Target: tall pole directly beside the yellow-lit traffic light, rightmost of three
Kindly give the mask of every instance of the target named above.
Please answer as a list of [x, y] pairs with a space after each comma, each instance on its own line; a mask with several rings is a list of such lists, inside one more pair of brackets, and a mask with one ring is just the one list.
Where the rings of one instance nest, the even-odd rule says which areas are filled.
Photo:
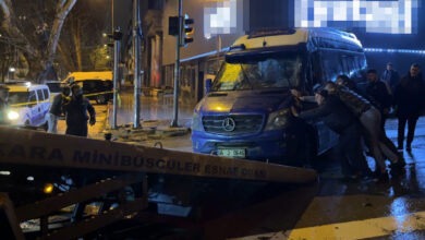
[[179, 127], [179, 80], [180, 80], [180, 46], [182, 39], [182, 0], [179, 0], [179, 35], [175, 38], [175, 64], [174, 64], [174, 118], [171, 122], [171, 128]]

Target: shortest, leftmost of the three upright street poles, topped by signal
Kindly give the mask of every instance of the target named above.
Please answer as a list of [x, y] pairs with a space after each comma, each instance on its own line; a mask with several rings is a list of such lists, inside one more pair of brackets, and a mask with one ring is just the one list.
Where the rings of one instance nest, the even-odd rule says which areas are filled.
[[113, 115], [112, 129], [117, 129], [117, 106], [118, 106], [118, 80], [120, 71], [118, 64], [120, 62], [120, 43], [122, 39], [121, 28], [118, 26], [113, 32]]

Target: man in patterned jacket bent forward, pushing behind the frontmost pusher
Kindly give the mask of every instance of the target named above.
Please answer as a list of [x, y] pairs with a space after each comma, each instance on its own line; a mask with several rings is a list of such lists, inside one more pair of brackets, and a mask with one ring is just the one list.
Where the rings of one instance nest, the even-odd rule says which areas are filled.
[[387, 156], [391, 161], [391, 168], [405, 165], [402, 156], [397, 153], [396, 146], [390, 145], [392, 142], [380, 128], [380, 112], [367, 99], [333, 82], [327, 82], [324, 88], [329, 94], [337, 96], [361, 122], [365, 130], [364, 135], [366, 136], [367, 146], [375, 158], [376, 173], [379, 177], [385, 178], [387, 176], [384, 156]]

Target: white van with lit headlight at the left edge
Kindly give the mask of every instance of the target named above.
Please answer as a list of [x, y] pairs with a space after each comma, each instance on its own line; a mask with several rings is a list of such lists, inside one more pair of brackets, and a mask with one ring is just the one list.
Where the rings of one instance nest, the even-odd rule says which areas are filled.
[[50, 91], [47, 85], [8, 84], [9, 112], [12, 125], [44, 127], [47, 129], [46, 115], [50, 108]]

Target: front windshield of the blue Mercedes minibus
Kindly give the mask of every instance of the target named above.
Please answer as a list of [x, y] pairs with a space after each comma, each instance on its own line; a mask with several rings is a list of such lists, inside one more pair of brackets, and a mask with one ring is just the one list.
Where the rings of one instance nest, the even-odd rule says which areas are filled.
[[299, 84], [300, 72], [299, 55], [238, 57], [221, 65], [211, 91], [288, 88]]

